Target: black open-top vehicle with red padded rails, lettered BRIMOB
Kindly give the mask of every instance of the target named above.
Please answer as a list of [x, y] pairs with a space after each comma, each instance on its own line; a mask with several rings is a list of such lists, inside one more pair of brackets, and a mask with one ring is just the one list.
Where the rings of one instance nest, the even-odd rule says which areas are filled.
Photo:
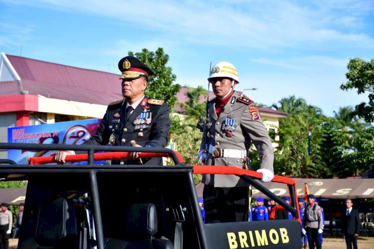
[[[0, 143], [2, 150], [75, 150], [68, 156], [85, 165], [56, 165], [53, 157], [28, 165], [0, 160], [2, 181], [27, 181], [18, 248], [300, 248], [301, 228], [295, 182], [291, 205], [255, 179], [262, 174], [225, 166], [189, 166], [166, 148]], [[104, 153], [95, 153], [97, 151]], [[95, 165], [94, 161], [170, 157], [174, 165]], [[46, 164], [47, 163], [47, 164]], [[204, 224], [193, 174], [236, 174], [292, 213], [294, 220]]]

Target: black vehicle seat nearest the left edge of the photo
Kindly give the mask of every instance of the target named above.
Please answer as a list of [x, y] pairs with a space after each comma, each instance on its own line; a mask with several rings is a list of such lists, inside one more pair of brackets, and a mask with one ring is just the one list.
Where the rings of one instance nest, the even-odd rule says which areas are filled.
[[18, 246], [18, 249], [54, 248], [79, 248], [75, 208], [64, 198], [40, 207], [35, 235]]

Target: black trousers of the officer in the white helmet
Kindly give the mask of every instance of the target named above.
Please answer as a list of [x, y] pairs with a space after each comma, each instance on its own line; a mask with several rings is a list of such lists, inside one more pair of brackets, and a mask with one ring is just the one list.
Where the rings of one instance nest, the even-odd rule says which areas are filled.
[[204, 185], [205, 223], [248, 221], [248, 188]]

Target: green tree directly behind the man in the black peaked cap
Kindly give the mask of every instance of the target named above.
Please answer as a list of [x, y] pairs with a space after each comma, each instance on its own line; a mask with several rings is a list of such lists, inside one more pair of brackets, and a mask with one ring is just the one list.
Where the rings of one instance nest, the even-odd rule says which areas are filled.
[[169, 55], [165, 54], [161, 47], [156, 52], [146, 48], [143, 48], [142, 52], [129, 51], [129, 55], [137, 57], [155, 72], [149, 79], [146, 95], [149, 98], [163, 99], [170, 108], [173, 108], [177, 104], [177, 93], [181, 85], [174, 84], [177, 77], [172, 73], [172, 68], [166, 65]]

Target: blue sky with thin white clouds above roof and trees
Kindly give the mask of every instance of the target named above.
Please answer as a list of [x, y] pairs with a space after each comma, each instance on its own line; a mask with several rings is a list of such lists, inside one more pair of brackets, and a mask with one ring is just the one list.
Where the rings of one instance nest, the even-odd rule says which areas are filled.
[[181, 85], [207, 88], [210, 62], [229, 61], [255, 102], [295, 95], [333, 116], [367, 101], [339, 87], [350, 58], [374, 58], [374, 1], [0, 0], [5, 54], [119, 73], [158, 47]]

